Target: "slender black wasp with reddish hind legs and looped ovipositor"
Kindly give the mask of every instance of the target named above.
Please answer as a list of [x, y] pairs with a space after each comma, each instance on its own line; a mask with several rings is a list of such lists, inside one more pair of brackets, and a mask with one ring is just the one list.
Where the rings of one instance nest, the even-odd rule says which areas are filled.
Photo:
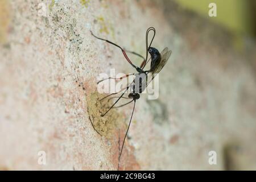
[[[151, 42], [150, 42], [150, 45], [148, 46], [148, 34], [150, 31], [153, 31], [154, 34], [152, 36], [152, 39], [151, 39]], [[161, 53], [159, 53], [158, 49], [154, 48], [154, 47], [151, 47], [151, 44], [152, 44], [152, 41], [154, 40], [155, 38], [155, 28], [154, 27], [150, 27], [147, 29], [146, 31], [146, 59], [142, 56], [142, 55], [139, 55], [138, 53], [136, 52], [133, 52], [133, 51], [127, 51], [125, 49], [123, 49], [122, 47], [118, 46], [117, 44], [113, 43], [113, 42], [110, 42], [109, 40], [106, 40], [106, 39], [102, 39], [102, 38], [99, 38], [97, 37], [96, 35], [93, 34], [93, 32], [91, 31], [92, 35], [97, 38], [97, 39], [100, 39], [100, 40], [104, 40], [106, 41], [107, 43], [109, 44], [112, 44], [118, 48], [121, 49], [122, 53], [123, 53], [123, 56], [125, 56], [125, 59], [128, 61], [128, 63], [130, 63], [130, 65], [132, 67], [134, 67], [136, 69], [136, 71], [138, 73], [130, 73], [130, 74], [127, 74], [123, 77], [119, 77], [119, 78], [112, 78], [112, 77], [109, 77], [109, 78], [106, 78], [104, 80], [107, 80], [107, 79], [114, 79], [114, 80], [122, 80], [123, 78], [126, 78], [126, 77], [129, 77], [131, 75], [134, 75], [135, 78], [133, 80], [133, 82], [131, 84], [129, 84], [126, 88], [120, 90], [119, 92], [116, 92], [116, 93], [112, 93], [112, 94], [109, 94], [108, 96], [102, 98], [101, 100], [104, 100], [105, 98], [109, 97], [109, 96], [113, 96], [114, 94], [118, 94], [118, 93], [122, 93], [121, 96], [119, 97], [112, 97], [112, 98], [118, 98], [114, 104], [108, 109], [108, 111], [106, 111], [106, 113], [102, 114], [101, 116], [104, 117], [105, 114], [107, 114], [109, 112], [110, 109], [112, 108], [117, 108], [117, 107], [122, 107], [122, 106], [125, 106], [131, 102], [134, 102], [134, 106], [133, 106], [133, 112], [131, 113], [131, 118], [133, 118], [133, 113], [134, 113], [134, 108], [135, 108], [135, 103], [136, 101], [139, 99], [140, 97], [140, 94], [146, 89], [147, 85], [154, 79], [155, 75], [157, 73], [159, 73], [162, 68], [164, 67], [164, 65], [166, 64], [167, 60], [169, 59], [170, 55], [171, 55], [171, 52], [170, 50], [168, 50], [168, 48], [164, 48], [163, 51]], [[129, 57], [127, 56], [126, 52], [129, 52], [129, 53], [133, 53], [134, 55], [137, 55], [139, 57], [141, 57], [143, 59], [142, 63], [141, 63], [141, 66], [140, 67], [137, 67], [136, 65], [134, 65], [131, 60], [129, 59]], [[150, 53], [150, 58], [147, 60], [147, 57], [148, 57], [148, 53]], [[150, 69], [147, 70], [147, 71], [144, 71], [144, 67], [146, 66], [146, 64], [148, 63], [148, 61], [151, 60], [151, 64], [150, 64]], [[151, 76], [151, 79], [150, 81], [147, 81], [147, 78], [148, 78], [148, 73], [151, 73], [152, 76]], [[104, 81], [104, 80], [101, 80], [101, 81]], [[98, 83], [100, 83], [101, 81], [98, 81]], [[130, 88], [130, 90], [129, 90]], [[123, 94], [126, 93], [126, 91], [129, 90], [129, 95], [128, 97], [123, 97]], [[117, 104], [117, 102], [121, 99], [121, 98], [126, 98], [126, 99], [130, 99], [131, 101], [127, 102], [126, 104], [123, 104], [123, 105], [120, 105], [120, 106], [115, 106], [115, 104]], [[125, 134], [125, 138], [123, 138], [123, 143], [122, 143], [122, 148], [121, 148], [121, 152], [119, 154], [119, 160], [121, 158], [121, 155], [122, 155], [122, 151], [123, 151], [123, 145], [125, 144], [125, 139], [126, 139], [126, 136], [127, 136], [127, 133], [129, 131], [129, 127], [130, 127], [130, 124], [131, 124], [131, 118], [130, 118], [130, 122], [129, 122], [129, 125], [128, 125], [128, 128], [127, 128], [127, 131], [126, 131], [126, 134]]]

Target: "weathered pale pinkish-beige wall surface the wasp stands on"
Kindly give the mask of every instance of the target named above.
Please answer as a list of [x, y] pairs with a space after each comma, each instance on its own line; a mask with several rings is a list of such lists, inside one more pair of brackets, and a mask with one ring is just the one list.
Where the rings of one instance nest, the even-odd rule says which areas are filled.
[[173, 53], [159, 99], [137, 102], [120, 169], [256, 169], [255, 47], [237, 53], [228, 32], [171, 1], [43, 1], [46, 17], [40, 2], [1, 2], [1, 169], [117, 169], [133, 106], [113, 111], [112, 137], [99, 135], [96, 78], [134, 70], [89, 30], [144, 54], [150, 26], [154, 47]]

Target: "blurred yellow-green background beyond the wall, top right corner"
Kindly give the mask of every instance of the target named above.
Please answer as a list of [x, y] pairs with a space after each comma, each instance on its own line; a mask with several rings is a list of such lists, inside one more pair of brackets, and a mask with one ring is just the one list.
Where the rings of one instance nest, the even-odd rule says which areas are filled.
[[[180, 7], [220, 24], [234, 35], [234, 46], [242, 50], [244, 39], [256, 38], [256, 1], [254, 0], [175, 0]], [[207, 17], [209, 3], [216, 3], [217, 17]]]

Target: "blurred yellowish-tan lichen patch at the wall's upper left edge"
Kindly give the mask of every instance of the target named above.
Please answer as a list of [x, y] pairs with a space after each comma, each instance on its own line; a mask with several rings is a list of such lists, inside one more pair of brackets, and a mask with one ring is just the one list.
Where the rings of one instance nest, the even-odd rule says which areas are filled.
[[7, 32], [10, 23], [10, 7], [9, 1], [0, 1], [0, 43], [6, 43]]

